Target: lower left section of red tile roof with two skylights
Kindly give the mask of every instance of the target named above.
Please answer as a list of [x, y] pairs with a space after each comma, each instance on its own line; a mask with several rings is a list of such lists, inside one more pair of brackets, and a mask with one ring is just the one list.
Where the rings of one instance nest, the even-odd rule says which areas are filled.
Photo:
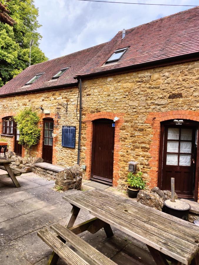
[[[73, 77], [81, 68], [88, 63], [105, 45], [106, 43], [81, 50], [66, 56], [31, 65], [24, 71], [10, 80], [7, 84], [0, 88], [0, 96], [15, 94], [21, 92], [31, 92], [56, 86], [64, 86], [77, 83]], [[52, 79], [60, 69], [69, 67], [59, 78]], [[31, 85], [25, 85], [36, 74], [45, 72], [38, 80]]]

